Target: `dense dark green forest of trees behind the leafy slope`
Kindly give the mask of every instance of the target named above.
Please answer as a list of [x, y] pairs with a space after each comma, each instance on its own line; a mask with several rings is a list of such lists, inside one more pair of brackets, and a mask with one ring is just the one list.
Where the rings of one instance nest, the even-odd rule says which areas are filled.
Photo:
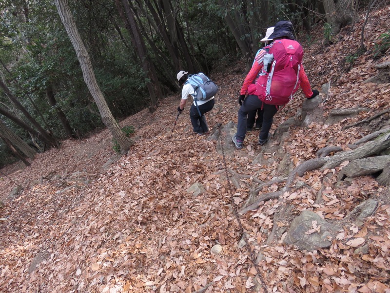
[[[375, 0], [2, 0], [0, 167], [20, 159], [28, 165], [24, 158], [104, 125], [125, 153], [133, 142], [117, 122], [145, 107], [154, 112], [158, 101], [178, 91], [179, 70], [209, 74], [240, 60], [248, 70], [265, 30], [279, 20], [292, 21], [309, 43], [312, 30], [321, 29], [329, 44], [340, 29], [359, 21], [359, 10], [369, 17], [380, 5]], [[76, 31], [67, 33], [64, 15]], [[82, 50], [70, 41], [75, 34]], [[347, 62], [366, 50], [364, 37], [356, 42], [361, 44]], [[383, 50], [377, 46], [377, 53]], [[95, 77], [97, 90], [88, 82]]]

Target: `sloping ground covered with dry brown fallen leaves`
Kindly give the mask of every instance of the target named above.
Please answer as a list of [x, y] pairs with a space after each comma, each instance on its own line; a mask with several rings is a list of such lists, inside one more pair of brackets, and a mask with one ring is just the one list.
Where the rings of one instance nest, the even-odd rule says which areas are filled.
[[[373, 59], [374, 43], [390, 30], [390, 7], [374, 12], [365, 27], [368, 51], [353, 58], [363, 20], [346, 27], [339, 39], [325, 46], [316, 28], [311, 43], [299, 38], [305, 49], [304, 65], [312, 88], [330, 84], [325, 115], [332, 109], [367, 107], [354, 118], [327, 125], [324, 120], [289, 130], [283, 149], [298, 166], [315, 158], [323, 146], [342, 146], [375, 130], [375, 126], [343, 126], [389, 108], [390, 84], [364, 83], [377, 74], [373, 65], [389, 61], [389, 54]], [[317, 38], [317, 39], [316, 39]], [[354, 63], [346, 62], [354, 60]], [[210, 76], [219, 85], [215, 109], [207, 115], [213, 131], [217, 125], [236, 122], [237, 98], [244, 80], [242, 63]], [[274, 117], [272, 130], [293, 116], [303, 94]], [[81, 140], [66, 140], [61, 148], [37, 155], [31, 166], [3, 168], [0, 178], [0, 292], [252, 292], [256, 268], [245, 247], [239, 245], [241, 229], [234, 216], [234, 200], [242, 207], [258, 182], [280, 176], [280, 162], [262, 164], [275, 154], [257, 146], [258, 131], [248, 133], [244, 148], [232, 142], [192, 133], [189, 105], [179, 116], [180, 94], [120, 122], [134, 126], [136, 144], [127, 155], [117, 156], [111, 134], [103, 130]], [[388, 116], [387, 116], [388, 117]], [[173, 127], [174, 126], [174, 127]], [[269, 143], [275, 144], [275, 138]], [[217, 145], [226, 150], [224, 156]], [[111, 165], [106, 162], [116, 158]], [[225, 168], [228, 168], [228, 170]], [[342, 239], [331, 248], [301, 252], [282, 244], [282, 237], [267, 242], [273, 225], [288, 227], [290, 215], [274, 223], [283, 202], [292, 204], [291, 215], [310, 209], [336, 223], [367, 198], [383, 198], [387, 187], [371, 176], [348, 185], [331, 184], [328, 201], [314, 204], [325, 176], [338, 181], [341, 167], [312, 170], [296, 178], [308, 188], [265, 201], [241, 216], [251, 250], [262, 255], [258, 268], [268, 292], [390, 292], [390, 206], [381, 202], [362, 227], [345, 228], [345, 238], [364, 238], [366, 254]], [[228, 181], [229, 173], [232, 181]], [[236, 174], [236, 176], [234, 175]], [[233, 177], [234, 182], [232, 184]], [[188, 189], [195, 183], [205, 192]], [[20, 185], [20, 194], [10, 197]], [[261, 192], [280, 190], [283, 184], [265, 186]], [[219, 244], [222, 251], [212, 253]], [[260, 286], [260, 292], [265, 292]]]

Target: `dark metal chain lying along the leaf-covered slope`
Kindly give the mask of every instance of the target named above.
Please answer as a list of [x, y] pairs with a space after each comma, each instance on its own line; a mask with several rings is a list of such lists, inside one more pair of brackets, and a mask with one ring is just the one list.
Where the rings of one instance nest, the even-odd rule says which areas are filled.
[[[251, 247], [250, 247], [249, 242], [248, 242], [248, 237], [244, 233], [244, 228], [242, 228], [241, 219], [240, 219], [240, 216], [238, 215], [238, 212], [237, 212], [237, 208], [238, 207], [237, 207], [237, 205], [234, 202], [234, 198], [233, 198], [234, 192], [233, 192], [232, 185], [230, 184], [229, 172], [228, 172], [228, 167], [227, 167], [226, 158], [225, 158], [225, 151], [223, 149], [223, 143], [222, 143], [223, 141], [222, 141], [222, 138], [221, 138], [221, 124], [218, 125], [218, 128], [219, 128], [219, 137], [220, 137], [221, 150], [222, 150], [222, 163], [223, 163], [223, 166], [225, 168], [226, 178], [228, 180], [228, 189], [229, 189], [229, 193], [230, 193], [230, 202], [231, 202], [231, 205], [232, 205], [232, 208], [233, 208], [233, 211], [234, 211], [234, 216], [235, 216], [235, 219], [238, 222], [238, 227], [240, 228], [240, 232], [242, 234], [242, 237], [244, 237], [245, 246], [247, 247], [247, 250], [248, 250], [248, 252], [249, 252], [249, 254], [251, 256], [251, 261], [252, 261], [252, 263], [254, 265], [254, 268], [256, 269], [257, 276], [258, 276], [258, 278], [260, 279], [260, 282], [261, 282], [261, 286], [263, 287], [264, 292], [268, 293], [267, 285], [265, 284], [264, 279], [261, 276], [260, 268], [256, 264], [256, 260], [254, 258], [254, 253], [251, 250]], [[216, 149], [216, 145], [215, 145], [215, 149]]]

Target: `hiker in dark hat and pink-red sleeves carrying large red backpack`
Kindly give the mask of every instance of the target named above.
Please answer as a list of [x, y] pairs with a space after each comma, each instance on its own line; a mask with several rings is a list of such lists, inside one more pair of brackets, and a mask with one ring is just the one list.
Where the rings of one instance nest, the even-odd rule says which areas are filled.
[[319, 94], [317, 90], [312, 91], [303, 69], [303, 49], [295, 41], [292, 23], [277, 22], [270, 39], [273, 43], [264, 47], [256, 56], [256, 62], [240, 90], [238, 103], [241, 107], [238, 110], [237, 132], [233, 135], [233, 143], [237, 149], [242, 148], [250, 111], [263, 109], [263, 124], [258, 140], [258, 145], [262, 146], [271, 138], [269, 131], [273, 116], [292, 99], [299, 87], [308, 99]]

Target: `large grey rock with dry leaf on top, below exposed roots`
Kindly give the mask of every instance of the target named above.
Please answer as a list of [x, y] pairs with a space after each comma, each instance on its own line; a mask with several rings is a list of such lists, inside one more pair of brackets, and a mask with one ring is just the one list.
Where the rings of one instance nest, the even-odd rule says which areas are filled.
[[[315, 222], [317, 230], [313, 231]], [[315, 212], [304, 210], [292, 220], [283, 243], [295, 245], [301, 251], [328, 248], [331, 246], [331, 238], [342, 230], [342, 227], [328, 223]]]

